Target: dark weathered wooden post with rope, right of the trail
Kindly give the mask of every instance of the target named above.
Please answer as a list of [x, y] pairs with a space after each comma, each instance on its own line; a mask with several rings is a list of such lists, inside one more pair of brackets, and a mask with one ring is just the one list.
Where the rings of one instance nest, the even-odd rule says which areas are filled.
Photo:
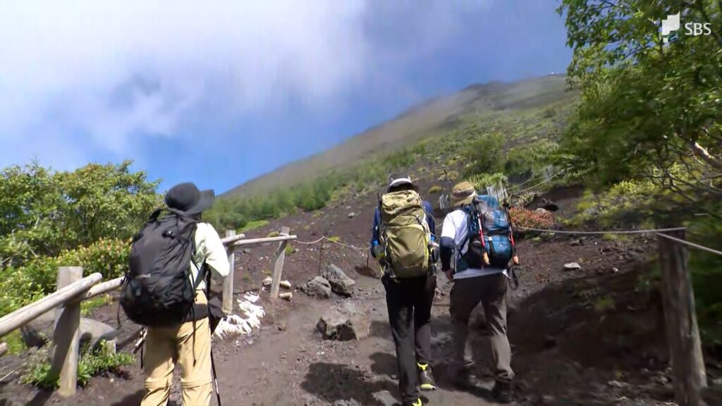
[[[684, 231], [669, 233], [684, 239]], [[658, 236], [662, 269], [662, 302], [672, 363], [672, 383], [679, 406], [701, 405], [701, 388], [707, 386], [695, 295], [687, 269], [687, 248]]]

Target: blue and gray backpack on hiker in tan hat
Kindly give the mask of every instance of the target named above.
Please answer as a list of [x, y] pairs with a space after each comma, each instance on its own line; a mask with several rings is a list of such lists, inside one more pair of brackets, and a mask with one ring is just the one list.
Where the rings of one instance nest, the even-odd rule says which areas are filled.
[[[477, 196], [473, 204], [464, 207], [469, 215], [469, 249], [464, 261], [469, 267], [506, 269], [514, 253], [509, 217], [499, 201], [487, 194]], [[486, 254], [486, 255], [484, 255]], [[488, 258], [488, 263], [484, 259]]]

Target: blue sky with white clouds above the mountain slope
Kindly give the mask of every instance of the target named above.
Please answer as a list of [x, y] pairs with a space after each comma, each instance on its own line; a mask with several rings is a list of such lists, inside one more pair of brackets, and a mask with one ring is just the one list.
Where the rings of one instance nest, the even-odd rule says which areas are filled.
[[564, 72], [553, 0], [0, 0], [0, 165], [222, 193], [427, 98]]

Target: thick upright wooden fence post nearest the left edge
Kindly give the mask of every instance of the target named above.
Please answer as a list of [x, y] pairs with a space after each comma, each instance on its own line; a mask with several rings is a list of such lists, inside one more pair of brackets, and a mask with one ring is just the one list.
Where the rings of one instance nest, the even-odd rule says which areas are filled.
[[[83, 277], [82, 267], [60, 267], [58, 288], [60, 290]], [[78, 356], [80, 340], [80, 302], [67, 302], [57, 308], [53, 330], [53, 362], [51, 376], [60, 376], [58, 394], [71, 397], [77, 389]]]

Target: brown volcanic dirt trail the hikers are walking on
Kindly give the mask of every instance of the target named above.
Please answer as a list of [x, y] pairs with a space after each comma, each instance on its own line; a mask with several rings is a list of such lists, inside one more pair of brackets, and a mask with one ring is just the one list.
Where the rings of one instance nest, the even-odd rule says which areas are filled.
[[[422, 184], [422, 189], [428, 185]], [[555, 197], [567, 210], [563, 194]], [[302, 213], [247, 233], [265, 236], [290, 226], [300, 241], [339, 236], [364, 247], [373, 216], [370, 199], [331, 205], [321, 213]], [[354, 216], [349, 216], [354, 212]], [[440, 219], [439, 219], [440, 220]], [[383, 287], [365, 269], [359, 252], [326, 243], [305, 246], [287, 257], [284, 278], [295, 287], [318, 274], [319, 258], [342, 267], [357, 280], [355, 297], [326, 301], [296, 291], [291, 303], [271, 303], [261, 295], [267, 316], [261, 330], [215, 345], [219, 384], [225, 405], [238, 406], [387, 406], [396, 399], [396, 361], [388, 328]], [[257, 289], [269, 269], [275, 246], [267, 244], [237, 256], [238, 294]], [[521, 288], [511, 293], [509, 336], [517, 376], [518, 405], [664, 405], [672, 399], [661, 303], [643, 272], [655, 250], [650, 241], [605, 241], [588, 238], [547, 238], [521, 241]], [[321, 255], [320, 255], [321, 254]], [[579, 262], [582, 269], [565, 272], [562, 264]], [[450, 285], [438, 276], [443, 293]], [[321, 340], [314, 332], [327, 308], [353, 301], [371, 319], [371, 336], [352, 342]], [[116, 305], [93, 316], [115, 324]], [[137, 327], [124, 324], [126, 345]], [[450, 384], [451, 322], [448, 294], [435, 302], [432, 354], [440, 389], [427, 395], [429, 405], [493, 405], [487, 400], [493, 375], [490, 345], [483, 321], [474, 324], [471, 340], [477, 349], [484, 386], [474, 393]], [[126, 347], [127, 348], [127, 347]], [[7, 357], [6, 357], [7, 358]], [[720, 376], [718, 360], [708, 358], [711, 378]], [[4, 367], [0, 373], [5, 374]], [[0, 384], [0, 406], [10, 405], [138, 405], [143, 377], [139, 365], [124, 376], [100, 377], [74, 399], [30, 389], [14, 381]], [[173, 403], [180, 397], [173, 389]], [[178, 403], [175, 403], [178, 404]], [[712, 403], [714, 404], [714, 403]]]

